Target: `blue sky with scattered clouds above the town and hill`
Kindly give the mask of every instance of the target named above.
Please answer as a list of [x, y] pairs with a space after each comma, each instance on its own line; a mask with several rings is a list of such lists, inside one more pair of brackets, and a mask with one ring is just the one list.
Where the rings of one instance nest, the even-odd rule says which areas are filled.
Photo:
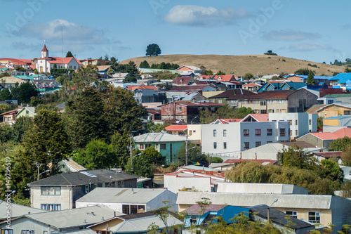
[[[0, 57], [72, 51], [79, 59], [263, 54], [317, 63], [351, 58], [350, 1], [1, 0]], [[62, 29], [62, 30], [61, 30]], [[63, 37], [62, 37], [63, 34]], [[62, 40], [63, 39], [63, 40]]]

